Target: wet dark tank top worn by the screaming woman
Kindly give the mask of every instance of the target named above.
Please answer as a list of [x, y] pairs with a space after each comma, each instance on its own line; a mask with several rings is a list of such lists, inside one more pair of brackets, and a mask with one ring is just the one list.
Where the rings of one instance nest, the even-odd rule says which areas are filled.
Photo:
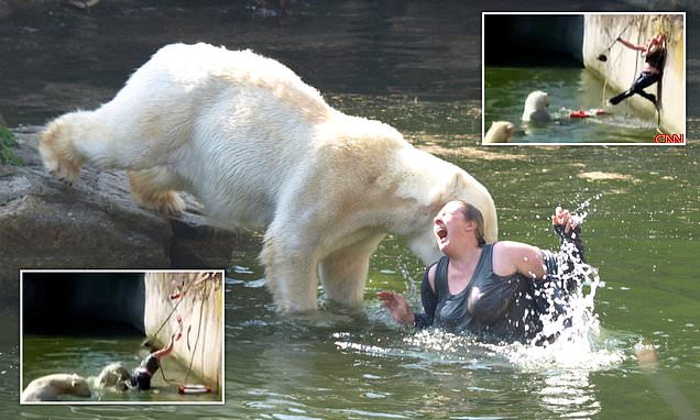
[[524, 341], [542, 330], [531, 280], [521, 274], [502, 277], [493, 273], [493, 244], [484, 245], [471, 280], [457, 295], [449, 291], [448, 265], [449, 258], [444, 256], [435, 272], [438, 303], [434, 327], [453, 333]]

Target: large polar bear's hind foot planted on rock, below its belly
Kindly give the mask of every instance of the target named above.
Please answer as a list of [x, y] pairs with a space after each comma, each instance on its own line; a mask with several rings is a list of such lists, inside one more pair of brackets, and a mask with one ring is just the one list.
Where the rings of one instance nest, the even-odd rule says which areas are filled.
[[129, 185], [134, 200], [146, 209], [165, 214], [179, 215], [185, 202], [175, 192], [177, 179], [165, 167], [129, 170]]

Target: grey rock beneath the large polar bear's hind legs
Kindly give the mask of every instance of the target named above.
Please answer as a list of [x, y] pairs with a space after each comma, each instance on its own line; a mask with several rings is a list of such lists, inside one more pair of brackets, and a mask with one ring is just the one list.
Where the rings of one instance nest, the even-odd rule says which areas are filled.
[[[0, 294], [19, 296], [20, 269], [227, 268], [250, 236], [209, 225], [201, 206], [171, 218], [138, 207], [123, 172], [85, 166], [73, 186], [51, 177], [41, 128], [17, 130], [25, 165], [0, 166]], [[247, 245], [249, 246], [249, 245]]]

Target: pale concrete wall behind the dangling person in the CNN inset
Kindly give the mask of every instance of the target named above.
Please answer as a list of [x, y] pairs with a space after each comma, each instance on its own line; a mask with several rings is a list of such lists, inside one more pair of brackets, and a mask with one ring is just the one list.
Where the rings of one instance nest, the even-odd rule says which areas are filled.
[[[646, 44], [658, 31], [666, 34], [667, 57], [664, 78], [660, 86], [653, 85], [645, 90], [661, 98], [661, 130], [666, 133], [685, 134], [686, 56], [682, 15], [666, 14], [663, 18], [657, 14], [586, 15], [583, 26], [583, 64], [589, 70], [608, 79], [608, 98], [628, 89], [644, 68], [644, 57], [638, 52], [621, 43], [615, 43], [610, 51], [606, 51], [610, 44], [623, 31], [622, 38], [637, 45]], [[608, 62], [598, 59], [601, 53], [608, 56]], [[660, 92], [657, 91], [657, 86]], [[635, 95], [627, 100], [642, 115], [656, 118], [654, 106], [646, 99]]]

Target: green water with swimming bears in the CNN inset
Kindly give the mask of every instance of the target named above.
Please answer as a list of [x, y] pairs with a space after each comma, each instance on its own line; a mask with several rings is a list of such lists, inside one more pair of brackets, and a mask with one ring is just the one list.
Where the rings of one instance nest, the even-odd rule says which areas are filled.
[[[525, 99], [535, 90], [549, 95], [549, 123], [521, 121]], [[512, 141], [516, 143], [654, 143], [656, 113], [633, 110], [627, 102], [605, 106], [605, 100], [619, 92], [584, 68], [486, 66], [484, 128], [488, 131], [494, 121], [513, 122], [516, 133]], [[571, 111], [598, 109], [606, 113], [569, 118]]]

